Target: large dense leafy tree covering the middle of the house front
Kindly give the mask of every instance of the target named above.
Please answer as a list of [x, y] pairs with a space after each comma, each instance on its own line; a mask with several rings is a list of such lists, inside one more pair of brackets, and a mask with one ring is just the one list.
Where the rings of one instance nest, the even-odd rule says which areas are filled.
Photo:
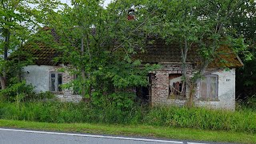
[[[47, 2], [39, 2], [38, 7], [46, 14], [43, 24], [57, 31], [62, 62], [70, 64], [70, 74], [78, 78], [70, 84], [78, 86], [84, 97], [147, 84], [150, 66], [142, 69], [141, 62], [130, 57], [146, 41], [142, 26], [148, 17], [138, 14], [136, 20], [127, 20], [128, 10], [138, 2], [114, 1], [107, 9], [98, 0], [74, 0], [72, 7]], [[57, 3], [62, 10], [49, 7]]]

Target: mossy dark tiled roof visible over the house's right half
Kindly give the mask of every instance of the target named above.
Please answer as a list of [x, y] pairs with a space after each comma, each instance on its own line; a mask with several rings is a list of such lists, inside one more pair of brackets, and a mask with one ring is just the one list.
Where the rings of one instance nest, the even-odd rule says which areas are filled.
[[[218, 49], [219, 53], [210, 63], [209, 67], [239, 67], [243, 66], [242, 61], [228, 46], [222, 46]], [[145, 52], [139, 52], [134, 58], [142, 60], [144, 63], [164, 63], [164, 62], [182, 62], [182, 54], [178, 43], [166, 45], [161, 38], [154, 39], [152, 43], [146, 45]], [[197, 49], [193, 46], [188, 51], [186, 62], [200, 63]]]

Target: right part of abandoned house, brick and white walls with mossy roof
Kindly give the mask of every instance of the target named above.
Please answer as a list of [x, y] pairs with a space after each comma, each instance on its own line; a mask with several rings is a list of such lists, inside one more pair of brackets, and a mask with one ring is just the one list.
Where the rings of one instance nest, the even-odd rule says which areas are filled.
[[[227, 46], [222, 46], [219, 50], [222, 51], [221, 54], [210, 63], [204, 78], [196, 87], [194, 105], [234, 110], [235, 68], [243, 66], [243, 63]], [[152, 104], [182, 106], [186, 103], [189, 89], [188, 86], [182, 85], [182, 58], [178, 44], [167, 46], [162, 39], [156, 39], [153, 44], [146, 45], [146, 53], [136, 57], [144, 63], [158, 63], [162, 66], [161, 69], [150, 72], [150, 86], [140, 89], [144, 94], [142, 97], [149, 98]], [[197, 70], [200, 61], [198, 57], [195, 51], [188, 51], [188, 77]]]

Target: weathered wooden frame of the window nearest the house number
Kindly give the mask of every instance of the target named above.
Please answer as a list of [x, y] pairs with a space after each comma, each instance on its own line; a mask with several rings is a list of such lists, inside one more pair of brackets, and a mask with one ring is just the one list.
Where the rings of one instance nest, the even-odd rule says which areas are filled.
[[[210, 94], [211, 78], [215, 78], [215, 96]], [[206, 96], [202, 96], [202, 81], [206, 79]], [[217, 74], [207, 74], [204, 76], [204, 79], [200, 81], [200, 99], [202, 100], [218, 100], [218, 75]]]

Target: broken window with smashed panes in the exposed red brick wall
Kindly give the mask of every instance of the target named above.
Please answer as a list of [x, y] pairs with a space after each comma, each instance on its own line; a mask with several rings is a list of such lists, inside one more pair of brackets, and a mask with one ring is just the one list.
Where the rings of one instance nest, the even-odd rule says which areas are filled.
[[186, 98], [186, 83], [182, 82], [182, 74], [169, 74], [169, 97]]

